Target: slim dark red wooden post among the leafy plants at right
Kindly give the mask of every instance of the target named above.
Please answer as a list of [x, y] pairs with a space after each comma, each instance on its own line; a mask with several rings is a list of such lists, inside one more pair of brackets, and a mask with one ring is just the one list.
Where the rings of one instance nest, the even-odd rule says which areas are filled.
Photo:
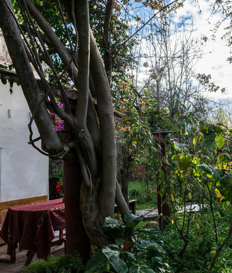
[[[159, 143], [160, 141], [160, 147], [161, 147], [161, 155], [164, 157], [166, 154], [166, 149], [165, 149], [165, 139], [164, 137], [166, 136], [166, 132], [162, 132], [160, 133], [160, 140], [159, 140], [159, 133], [155, 133], [154, 136], [156, 138], [157, 143]], [[165, 177], [165, 181], [167, 180], [167, 175], [166, 175], [166, 164], [163, 162], [162, 164], [162, 170], [164, 173], [164, 177]], [[163, 181], [163, 182], [165, 182]], [[161, 199], [162, 201], [164, 201], [166, 199], [166, 193], [164, 192], [162, 198], [159, 194], [160, 191], [160, 185], [157, 186], [157, 206], [158, 206], [158, 213], [161, 214]], [[164, 203], [162, 206], [163, 209], [163, 226], [165, 226], [165, 224], [167, 224], [169, 222], [169, 218], [170, 218], [170, 206], [167, 203]], [[159, 218], [159, 225], [160, 227], [162, 227], [161, 224], [161, 217]]]

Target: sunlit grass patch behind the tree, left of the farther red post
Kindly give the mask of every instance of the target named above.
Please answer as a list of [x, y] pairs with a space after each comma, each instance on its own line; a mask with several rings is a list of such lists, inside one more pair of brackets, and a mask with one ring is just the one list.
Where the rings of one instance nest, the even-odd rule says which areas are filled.
[[149, 183], [150, 193], [146, 189], [145, 180], [131, 180], [128, 183], [129, 200], [137, 199], [136, 209], [143, 210], [157, 206], [156, 185]]

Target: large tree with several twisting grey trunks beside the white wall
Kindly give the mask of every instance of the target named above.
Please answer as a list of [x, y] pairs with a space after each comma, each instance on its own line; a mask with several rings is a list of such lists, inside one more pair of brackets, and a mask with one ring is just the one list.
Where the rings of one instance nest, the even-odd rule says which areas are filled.
[[[87, 0], [40, 3], [18, 0], [13, 2], [13, 7], [10, 0], [1, 0], [0, 27], [32, 113], [29, 143], [45, 156], [79, 162], [83, 175], [80, 189], [82, 221], [92, 244], [101, 247], [112, 242], [104, 233], [103, 223], [106, 217], [114, 216], [115, 202], [122, 216], [129, 211], [116, 182], [116, 137], [110, 86], [112, 62], [133, 35], [122, 40], [120, 45], [119, 42], [114, 44], [115, 53], [111, 58], [110, 35], [112, 24], [120, 15], [119, 2], [109, 0], [106, 5], [93, 5]], [[89, 7], [96, 11], [94, 16], [99, 15], [95, 21], [89, 20]], [[167, 9], [167, 5], [153, 5], [152, 8], [160, 12]], [[100, 9], [104, 9], [104, 18], [99, 14]], [[90, 25], [97, 29], [94, 33], [97, 40]], [[146, 23], [142, 27], [144, 25]], [[115, 40], [118, 41], [117, 35]], [[55, 81], [53, 84], [47, 81], [41, 61], [46, 63], [49, 79]], [[31, 65], [39, 74], [44, 94], [41, 94]], [[78, 90], [75, 106], [70, 99], [72, 95], [62, 85], [67, 77]], [[54, 86], [62, 94], [64, 110], [57, 105], [52, 92]], [[64, 140], [59, 137], [60, 132], [55, 131], [48, 108], [66, 123], [68, 137], [65, 135]], [[33, 120], [39, 130], [42, 150], [35, 146], [38, 139], [32, 139]]]

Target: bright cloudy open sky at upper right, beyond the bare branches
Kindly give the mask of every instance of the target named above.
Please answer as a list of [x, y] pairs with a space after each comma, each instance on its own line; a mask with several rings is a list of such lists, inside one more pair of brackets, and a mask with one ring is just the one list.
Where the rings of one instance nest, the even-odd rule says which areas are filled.
[[[217, 12], [216, 14], [211, 15], [212, 7], [211, 5], [214, 1], [209, 0], [198, 0], [200, 5], [200, 9], [196, 7], [195, 1], [186, 0], [184, 2], [183, 8], [177, 9], [177, 13], [173, 14], [173, 24], [176, 23], [180, 26], [180, 29], [183, 27], [182, 18], [184, 16], [184, 25], [185, 29], [192, 28], [192, 20], [193, 17], [193, 36], [199, 39], [201, 36], [206, 36], [207, 42], [203, 42], [203, 57], [200, 59], [196, 66], [195, 72], [200, 74], [211, 74], [211, 81], [215, 83], [216, 86], [220, 86], [220, 89], [225, 87], [226, 92], [223, 94], [221, 91], [217, 91], [216, 93], [208, 93], [205, 94], [209, 99], [212, 99], [216, 102], [222, 101], [224, 102], [227, 97], [229, 100], [232, 100], [232, 87], [231, 87], [231, 79], [232, 79], [232, 64], [230, 65], [227, 62], [227, 58], [230, 56], [230, 49], [226, 46], [226, 43], [221, 40], [221, 37], [224, 35], [224, 27], [229, 25], [228, 20], [220, 26], [220, 28], [216, 32], [215, 41], [211, 39], [211, 35], [213, 34], [211, 29], [214, 29], [214, 24], [218, 21], [222, 21], [224, 19], [221, 12]], [[147, 11], [146, 11], [147, 10]], [[143, 9], [142, 12], [150, 12], [150, 10]], [[173, 25], [174, 29], [174, 25]], [[211, 52], [211, 53], [210, 53]]]

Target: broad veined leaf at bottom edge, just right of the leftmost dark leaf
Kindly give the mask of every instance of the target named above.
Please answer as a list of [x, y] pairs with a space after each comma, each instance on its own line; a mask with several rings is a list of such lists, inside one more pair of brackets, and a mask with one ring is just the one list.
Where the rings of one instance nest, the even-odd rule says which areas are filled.
[[126, 263], [119, 258], [120, 251], [116, 245], [108, 245], [102, 248], [102, 252], [108, 258], [109, 263], [113, 266], [116, 272], [127, 273]]

